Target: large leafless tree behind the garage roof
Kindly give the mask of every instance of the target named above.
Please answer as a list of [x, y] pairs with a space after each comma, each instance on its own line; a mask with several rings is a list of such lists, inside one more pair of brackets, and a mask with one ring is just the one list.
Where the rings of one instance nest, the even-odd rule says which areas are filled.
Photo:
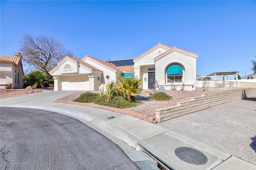
[[49, 74], [49, 71], [66, 55], [73, 56], [73, 53], [66, 50], [64, 45], [53, 36], [32, 36], [25, 34], [19, 42], [19, 50], [24, 61]]

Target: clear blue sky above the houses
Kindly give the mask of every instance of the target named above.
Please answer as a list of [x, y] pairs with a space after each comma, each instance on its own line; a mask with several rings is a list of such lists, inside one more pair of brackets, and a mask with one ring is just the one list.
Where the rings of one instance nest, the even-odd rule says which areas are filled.
[[55, 36], [74, 57], [134, 58], [157, 43], [199, 54], [197, 74], [253, 73], [256, 1], [0, 1], [0, 54], [24, 34]]

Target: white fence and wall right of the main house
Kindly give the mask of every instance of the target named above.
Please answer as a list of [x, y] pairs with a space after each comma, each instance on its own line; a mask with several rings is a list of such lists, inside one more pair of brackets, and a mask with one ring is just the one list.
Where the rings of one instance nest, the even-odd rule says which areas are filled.
[[218, 90], [235, 90], [243, 88], [256, 88], [255, 82], [244, 82], [241, 80], [232, 79], [230, 76], [206, 76], [206, 77], [197, 77], [196, 85], [197, 90], [204, 91], [218, 91]]

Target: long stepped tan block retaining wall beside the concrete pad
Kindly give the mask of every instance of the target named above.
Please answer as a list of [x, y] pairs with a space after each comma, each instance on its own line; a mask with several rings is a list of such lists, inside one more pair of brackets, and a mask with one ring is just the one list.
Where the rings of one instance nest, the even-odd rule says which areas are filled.
[[176, 106], [156, 109], [156, 121], [160, 123], [188, 113], [249, 97], [256, 97], [256, 88], [202, 94], [201, 97], [194, 97], [190, 101], [178, 102]]

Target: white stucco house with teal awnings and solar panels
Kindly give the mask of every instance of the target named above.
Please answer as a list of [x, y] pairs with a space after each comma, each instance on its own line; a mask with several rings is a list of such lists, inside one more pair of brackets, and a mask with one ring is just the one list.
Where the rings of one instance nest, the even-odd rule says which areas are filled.
[[82, 59], [66, 56], [50, 74], [54, 78], [54, 91], [98, 90], [99, 86], [118, 77], [136, 77], [142, 80], [142, 89], [159, 87], [171, 89], [171, 83], [180, 90], [192, 90], [196, 82], [198, 54], [158, 43], [136, 58], [102, 61], [86, 55]]

